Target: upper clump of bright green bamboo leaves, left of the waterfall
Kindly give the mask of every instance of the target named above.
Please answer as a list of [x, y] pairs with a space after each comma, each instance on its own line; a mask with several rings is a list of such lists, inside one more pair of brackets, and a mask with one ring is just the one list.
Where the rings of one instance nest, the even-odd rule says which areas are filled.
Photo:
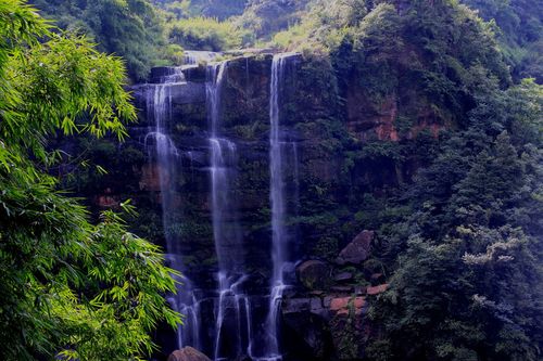
[[[30, 147], [35, 155], [42, 155], [40, 137], [59, 128], [66, 134], [113, 132], [123, 139], [124, 126], [115, 120], [135, 118], [123, 89], [123, 62], [99, 53], [85, 38], [51, 37], [39, 47], [14, 50], [7, 63], [9, 81], [16, 85], [12, 93], [20, 102], [13, 109], [18, 116], [5, 116], [2, 136]], [[84, 115], [88, 121], [77, 124]]]

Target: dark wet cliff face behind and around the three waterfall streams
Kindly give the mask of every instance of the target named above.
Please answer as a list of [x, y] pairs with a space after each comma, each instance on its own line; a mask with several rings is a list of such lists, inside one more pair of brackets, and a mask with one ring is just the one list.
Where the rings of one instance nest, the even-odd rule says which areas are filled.
[[[269, 293], [273, 269], [272, 57], [263, 54], [229, 61], [222, 95], [220, 132], [235, 142], [238, 154], [230, 190], [237, 211], [227, 215], [226, 221], [240, 222], [243, 271], [249, 274], [247, 292], [255, 297], [256, 304]], [[153, 77], [157, 79], [168, 72], [155, 69]], [[416, 143], [416, 136], [425, 131], [433, 139], [439, 128], [419, 121], [405, 130], [401, 115], [409, 107], [402, 107], [397, 95], [390, 94], [381, 102], [370, 101], [356, 75], [342, 79], [326, 59], [294, 56], [289, 59], [285, 72], [280, 123], [287, 154], [286, 222], [292, 235], [288, 282], [296, 285], [286, 295], [291, 301], [285, 304], [283, 333], [289, 335], [285, 347], [292, 360], [327, 360], [333, 354], [349, 358], [363, 351], [349, 347], [348, 351], [341, 351], [349, 345], [349, 337], [367, 337], [372, 332], [361, 321], [367, 308], [363, 296], [366, 287], [383, 280], [376, 276], [379, 267], [369, 248], [356, 263], [338, 262], [337, 257], [356, 234], [372, 227], [368, 219], [359, 217], [361, 206], [370, 205], [368, 199], [384, 196], [390, 188], [409, 181], [414, 167], [424, 162], [415, 152], [409, 159], [395, 157], [395, 147]], [[175, 190], [171, 196], [176, 210], [168, 217], [176, 221], [169, 222], [169, 229], [163, 229], [161, 165], [150, 154], [149, 144], [146, 149], [146, 134], [153, 128], [147, 108], [152, 96], [148, 85], [132, 88], [140, 112], [139, 123], [129, 128], [131, 138], [117, 149], [108, 142], [104, 144], [110, 145], [93, 146], [94, 156], [115, 160], [106, 165], [110, 173], [105, 178], [88, 183], [91, 188], [87, 192], [91, 193], [96, 208], [115, 207], [118, 202], [132, 198], [140, 212], [134, 230], [162, 245], [165, 245], [164, 232], [178, 238], [185, 273], [200, 293], [213, 298], [217, 258], [211, 219], [205, 68], [192, 67], [185, 70], [185, 76], [186, 83], [172, 87], [172, 120], [167, 124], [178, 152], [176, 176], [163, 180]], [[350, 86], [340, 93], [338, 83], [345, 81]], [[327, 265], [326, 282], [307, 281], [314, 271], [307, 271], [308, 275], [299, 272], [296, 279], [294, 263], [308, 259]], [[352, 295], [358, 296], [351, 298]], [[213, 302], [204, 304], [203, 309], [206, 308], [213, 312]], [[358, 321], [349, 322], [352, 330], [346, 330], [350, 318]], [[313, 320], [311, 325], [307, 320]]]

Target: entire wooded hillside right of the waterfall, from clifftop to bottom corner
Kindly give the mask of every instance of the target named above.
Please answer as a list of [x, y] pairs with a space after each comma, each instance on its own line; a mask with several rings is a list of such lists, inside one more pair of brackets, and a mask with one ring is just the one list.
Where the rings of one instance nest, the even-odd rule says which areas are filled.
[[371, 299], [367, 356], [539, 360], [542, 88], [512, 86], [495, 24], [456, 1], [368, 1], [353, 13], [342, 3], [317, 2], [275, 40], [331, 57], [340, 96], [359, 89], [377, 109], [392, 101], [399, 132], [421, 109], [446, 129], [348, 145], [354, 162], [419, 168], [364, 223], [378, 229], [375, 256], [393, 274]]

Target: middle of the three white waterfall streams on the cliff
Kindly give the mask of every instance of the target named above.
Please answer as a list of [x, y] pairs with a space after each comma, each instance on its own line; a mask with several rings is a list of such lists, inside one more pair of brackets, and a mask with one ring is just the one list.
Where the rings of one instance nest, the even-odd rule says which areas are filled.
[[[237, 147], [220, 134], [222, 93], [227, 62], [207, 67], [206, 105], [210, 121], [210, 173], [213, 237], [218, 261], [218, 300], [216, 307], [214, 359], [238, 357], [249, 346], [243, 343], [242, 319], [251, 330], [248, 296], [242, 292], [247, 275], [242, 272], [241, 232], [236, 219], [236, 199], [231, 194], [232, 173], [236, 168]], [[245, 312], [241, 312], [244, 306]], [[231, 321], [231, 322], [227, 322]], [[233, 335], [233, 336], [232, 336]], [[225, 341], [226, 337], [230, 341]], [[250, 339], [252, 336], [248, 336]], [[231, 344], [231, 339], [235, 344]], [[226, 345], [228, 344], [228, 345]], [[225, 349], [226, 348], [226, 349]]]

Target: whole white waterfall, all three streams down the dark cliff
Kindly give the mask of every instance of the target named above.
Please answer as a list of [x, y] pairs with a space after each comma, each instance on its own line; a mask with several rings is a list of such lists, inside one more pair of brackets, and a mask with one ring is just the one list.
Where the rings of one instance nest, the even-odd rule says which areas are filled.
[[[191, 56], [187, 62], [193, 62], [199, 56], [214, 56], [212, 53], [198, 52], [187, 52], [186, 55]], [[282, 360], [280, 310], [285, 289], [290, 286], [290, 279], [286, 279], [285, 273], [291, 269], [290, 262], [294, 254], [289, 243], [295, 237], [287, 217], [298, 211], [298, 203], [294, 201], [298, 199], [299, 142], [293, 139], [292, 132], [287, 131], [287, 121], [281, 117], [287, 64], [290, 64], [292, 55], [294, 54], [275, 55], [270, 72], [268, 156], [273, 267], [269, 288], [265, 286], [262, 289], [262, 275], [251, 273], [250, 278], [245, 265], [245, 253], [251, 248], [243, 247], [237, 194], [240, 191], [238, 186], [244, 186], [244, 179], [238, 178], [238, 163], [241, 165], [244, 162], [245, 155], [242, 152], [247, 143], [238, 141], [236, 132], [229, 125], [225, 126], [223, 119], [229, 63], [225, 61], [207, 65], [205, 105], [209, 124], [207, 129], [201, 133], [204, 137], [199, 138], [198, 142], [180, 142], [186, 136], [169, 131], [178, 128], [175, 123], [178, 119], [174, 119], [172, 98], [179, 96], [185, 89], [192, 91], [188, 87], [190, 81], [187, 83], [184, 76], [188, 65], [161, 68], [161, 73], [153, 78], [157, 79], [157, 83], [147, 85], [144, 88], [148, 90], [148, 118], [154, 121], [146, 136], [146, 146], [157, 166], [155, 169], [160, 181], [167, 261], [175, 270], [186, 270], [181, 240], [175, 235], [175, 230], [182, 218], [190, 221], [192, 217], [191, 208], [187, 208], [182, 215], [179, 206], [180, 189], [176, 184], [185, 184], [184, 181], [187, 180], [194, 183], [202, 179], [200, 177], [209, 177], [207, 205], [216, 255], [216, 268], [212, 269], [212, 274], [216, 276], [216, 283], [200, 282], [207, 275], [211, 279], [212, 274], [204, 274], [202, 278], [191, 274], [194, 283], [182, 278], [178, 280], [182, 282], [180, 292], [169, 295], [168, 301], [176, 311], [184, 314], [184, 325], [177, 331], [178, 348], [195, 347], [215, 361], [236, 360], [245, 356], [258, 361]], [[245, 66], [249, 68], [249, 63]], [[231, 70], [237, 68], [232, 67]], [[197, 86], [203, 91], [204, 85], [194, 82], [194, 87]], [[181, 106], [185, 104], [181, 98], [176, 98], [179, 112], [182, 112]], [[176, 142], [173, 141], [173, 134], [176, 134]], [[203, 160], [204, 154], [209, 162]], [[184, 164], [185, 170], [181, 166]], [[201, 170], [205, 170], [205, 173]], [[186, 178], [181, 177], [182, 181], [179, 181], [181, 171], [186, 171]], [[179, 186], [186, 189], [185, 185]], [[201, 222], [205, 221], [207, 219]], [[198, 289], [194, 289], [195, 285], [199, 285]], [[257, 297], [251, 298], [249, 293]], [[261, 297], [263, 293], [269, 295], [269, 298]]]

